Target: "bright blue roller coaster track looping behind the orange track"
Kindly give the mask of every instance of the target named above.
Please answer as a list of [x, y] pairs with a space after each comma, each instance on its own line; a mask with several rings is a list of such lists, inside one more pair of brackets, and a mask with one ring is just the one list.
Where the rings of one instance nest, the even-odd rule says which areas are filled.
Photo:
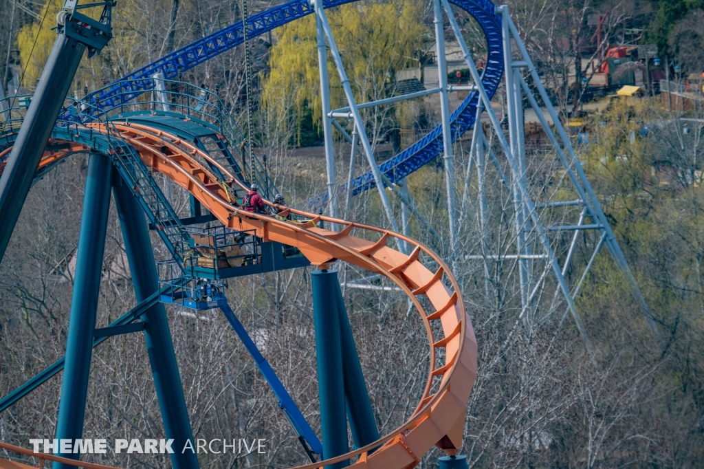
[[[325, 0], [323, 5], [325, 8], [332, 8], [351, 3], [352, 1], [356, 0]], [[489, 0], [450, 0], [450, 3], [472, 15], [484, 31], [487, 57], [486, 68], [484, 68], [484, 73], [482, 74], [482, 83], [486, 93], [489, 95], [489, 99], [491, 99], [501, 82], [501, 75], [503, 74], [501, 16], [496, 14], [496, 6]], [[250, 38], [257, 37], [279, 26], [291, 23], [291, 21], [298, 18], [310, 15], [310, 13], [313, 13], [313, 8], [310, 7], [308, 0], [292, 0], [275, 6], [270, 10], [252, 15], [248, 19], [248, 36]], [[122, 102], [130, 101], [139, 96], [139, 94], [153, 89], [151, 76], [155, 73], [161, 72], [165, 78], [175, 79], [180, 72], [194, 68], [196, 65], [208, 61], [210, 58], [222, 54], [222, 52], [230, 50], [242, 42], [242, 22], [239, 21], [126, 75], [120, 81], [126, 80], [127, 83], [122, 82], [122, 85], [103, 88], [103, 90], [97, 92], [97, 95], [89, 95], [89, 99], [92, 103], [95, 103], [97, 98], [100, 107], [112, 107], [120, 104], [120, 92], [127, 92], [122, 94]], [[471, 92], [452, 113], [453, 142], [474, 124], [478, 101], [479, 95], [477, 92]], [[66, 119], [68, 115], [61, 115], [60, 118]], [[384, 161], [384, 163], [379, 165], [379, 170], [389, 177], [391, 182], [396, 182], [432, 161], [442, 151], [442, 147], [442, 127], [438, 126], [425, 137], [415, 142], [415, 144], [409, 146], [408, 149], [401, 151], [400, 154], [388, 161]], [[372, 187], [375, 187], [374, 176], [371, 171], [367, 171], [367, 173], [353, 180], [351, 190], [353, 194], [359, 194]], [[346, 187], [340, 188], [341, 191], [345, 189]], [[327, 198], [327, 193], [322, 194], [314, 199], [313, 204], [322, 206], [327, 201]]]

